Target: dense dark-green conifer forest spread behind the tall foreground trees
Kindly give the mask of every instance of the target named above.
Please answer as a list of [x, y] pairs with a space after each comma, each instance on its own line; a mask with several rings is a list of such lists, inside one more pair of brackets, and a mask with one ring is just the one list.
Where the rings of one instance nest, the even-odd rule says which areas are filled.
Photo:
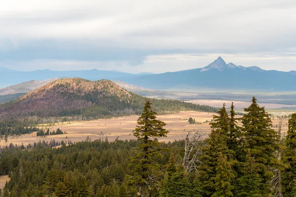
[[[184, 141], [161, 144], [176, 155], [180, 155], [183, 145]], [[119, 197], [120, 191], [126, 191], [136, 196], [125, 177], [131, 173], [128, 164], [136, 146], [136, 140], [96, 140], [58, 149], [42, 144], [30, 151], [4, 149], [0, 154], [0, 174], [10, 174], [11, 180], [3, 195], [9, 191], [13, 197], [60, 197], [63, 193], [73, 197]], [[169, 153], [164, 154], [159, 162], [166, 164], [169, 157]]]

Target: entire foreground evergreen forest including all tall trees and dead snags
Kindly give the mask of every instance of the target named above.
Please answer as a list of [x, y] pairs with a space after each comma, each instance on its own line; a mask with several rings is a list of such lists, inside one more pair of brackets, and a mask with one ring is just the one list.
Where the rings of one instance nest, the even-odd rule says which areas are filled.
[[[236, 118], [225, 106], [206, 139], [160, 143], [165, 123], [145, 103], [137, 140], [96, 140], [32, 150], [5, 148], [0, 173], [11, 180], [3, 197], [295, 197], [296, 114], [285, 139], [255, 98]], [[241, 122], [242, 125], [238, 126]]]

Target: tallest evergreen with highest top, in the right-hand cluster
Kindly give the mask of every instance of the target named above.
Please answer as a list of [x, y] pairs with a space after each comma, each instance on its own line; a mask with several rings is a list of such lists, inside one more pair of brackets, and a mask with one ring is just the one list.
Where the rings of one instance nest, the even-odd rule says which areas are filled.
[[[254, 158], [253, 176], [258, 176], [258, 187], [262, 197], [270, 194], [269, 181], [273, 177], [272, 169], [283, 169], [281, 161], [277, 160], [275, 152], [279, 149], [279, 135], [271, 129], [272, 122], [264, 107], [259, 107], [257, 99], [253, 97], [252, 104], [245, 108], [242, 118], [242, 146], [245, 154], [250, 152]], [[248, 162], [244, 157], [243, 162]], [[256, 175], [258, 173], [258, 175]]]

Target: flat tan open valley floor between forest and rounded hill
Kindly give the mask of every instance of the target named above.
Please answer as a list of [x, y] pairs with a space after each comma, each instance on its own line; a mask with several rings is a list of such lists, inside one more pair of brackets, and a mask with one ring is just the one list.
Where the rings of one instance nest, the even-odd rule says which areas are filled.
[[[166, 129], [169, 131], [169, 134], [165, 138], [160, 138], [159, 141], [174, 141], [179, 139], [184, 139], [188, 131], [191, 130], [201, 130], [206, 134], [210, 133], [210, 125], [209, 122], [212, 120], [214, 113], [208, 112], [196, 112], [196, 111], [186, 111], [180, 112], [178, 114], [168, 114], [168, 115], [159, 115], [158, 119], [164, 121], [166, 125]], [[195, 119], [195, 122], [198, 124], [189, 124], [189, 118]], [[241, 117], [241, 116], [238, 116]], [[8, 137], [8, 141], [5, 142], [3, 139], [0, 140], [0, 145], [5, 146], [10, 143], [25, 145], [27, 146], [29, 143], [32, 145], [34, 142], [55, 140], [61, 142], [77, 142], [86, 140], [87, 136], [91, 140], [101, 139], [106, 140], [108, 138], [109, 141], [115, 140], [117, 137], [121, 140], [129, 140], [135, 139], [133, 136], [133, 130], [135, 130], [137, 126], [138, 116], [125, 116], [118, 117], [112, 119], [99, 119], [93, 121], [85, 121], [85, 122], [71, 122], [71, 123], [60, 123], [54, 126], [43, 125], [40, 128], [47, 130], [49, 128], [50, 131], [56, 131], [58, 128], [62, 131], [66, 131], [67, 134], [60, 135], [48, 135], [46, 137], [36, 136], [36, 132], [31, 134], [24, 134], [22, 136], [14, 136]], [[274, 129], [277, 131], [277, 125], [279, 120], [277, 118], [272, 118]], [[285, 133], [288, 130], [288, 120], [283, 119], [283, 128], [282, 131]]]

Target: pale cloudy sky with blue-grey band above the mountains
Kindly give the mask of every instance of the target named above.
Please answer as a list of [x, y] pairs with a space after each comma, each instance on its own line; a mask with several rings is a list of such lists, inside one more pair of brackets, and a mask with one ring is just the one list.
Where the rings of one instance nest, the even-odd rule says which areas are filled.
[[296, 0], [9, 0], [0, 66], [130, 73], [226, 63], [296, 70]]

